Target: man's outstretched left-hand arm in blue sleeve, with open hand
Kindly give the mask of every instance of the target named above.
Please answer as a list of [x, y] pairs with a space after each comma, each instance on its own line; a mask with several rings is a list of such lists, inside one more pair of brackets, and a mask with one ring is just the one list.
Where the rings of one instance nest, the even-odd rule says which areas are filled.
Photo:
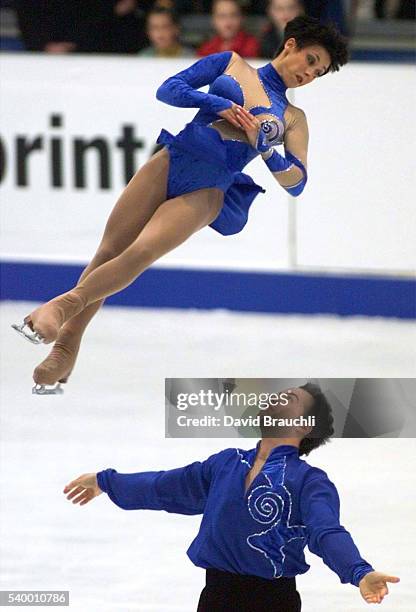
[[160, 472], [120, 474], [109, 468], [84, 474], [70, 482], [64, 493], [84, 505], [100, 493], [124, 510], [166, 510], [177, 514], [204, 511], [216, 455], [206, 461]]

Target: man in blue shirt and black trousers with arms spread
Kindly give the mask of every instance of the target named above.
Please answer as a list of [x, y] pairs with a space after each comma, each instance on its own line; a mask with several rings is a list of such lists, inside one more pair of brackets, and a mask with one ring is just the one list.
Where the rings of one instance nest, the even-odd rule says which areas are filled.
[[[202, 514], [188, 550], [206, 569], [198, 612], [299, 612], [295, 577], [308, 571], [304, 548], [342, 583], [381, 603], [388, 582], [374, 571], [339, 522], [337, 490], [322, 470], [300, 459], [334, 433], [331, 407], [311, 383], [288, 390], [287, 404], [261, 411], [262, 439], [252, 450], [228, 448], [186, 467], [137, 474], [113, 469], [84, 474], [64, 489], [84, 505], [103, 491], [126, 510]], [[314, 426], [277, 427], [266, 416], [314, 415]]]

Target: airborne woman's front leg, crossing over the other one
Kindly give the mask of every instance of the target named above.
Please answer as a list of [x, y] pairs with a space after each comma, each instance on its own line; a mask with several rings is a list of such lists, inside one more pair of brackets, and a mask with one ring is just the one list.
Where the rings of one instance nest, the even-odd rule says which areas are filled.
[[200, 189], [161, 204], [136, 240], [120, 255], [93, 270], [77, 286], [36, 309], [34, 329], [46, 340], [66, 319], [130, 285], [154, 261], [211, 223], [223, 204], [219, 189]]

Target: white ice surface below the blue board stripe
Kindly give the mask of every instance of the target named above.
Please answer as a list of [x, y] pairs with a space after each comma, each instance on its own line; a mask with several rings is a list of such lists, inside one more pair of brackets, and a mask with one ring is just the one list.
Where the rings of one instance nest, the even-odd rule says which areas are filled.
[[[169, 469], [236, 445], [165, 439], [165, 377], [416, 374], [415, 327], [405, 321], [108, 307], [87, 332], [65, 395], [37, 397], [31, 373], [49, 349], [10, 329], [34, 306], [0, 307], [0, 587], [69, 590], [69, 609], [79, 612], [196, 610], [204, 572], [186, 549], [198, 517], [126, 512], [105, 495], [78, 507], [62, 494], [85, 472]], [[336, 483], [342, 523], [362, 555], [401, 577], [386, 612], [415, 607], [415, 453], [415, 440], [345, 439], [309, 457]], [[305, 612], [368, 608], [319, 558], [307, 560], [311, 570], [298, 579]]]

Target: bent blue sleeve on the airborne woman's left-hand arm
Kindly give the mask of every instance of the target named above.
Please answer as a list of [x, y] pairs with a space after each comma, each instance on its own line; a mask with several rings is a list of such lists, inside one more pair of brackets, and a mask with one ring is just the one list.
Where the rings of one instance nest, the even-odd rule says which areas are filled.
[[210, 93], [198, 91], [210, 85], [228, 67], [233, 52], [224, 51], [204, 57], [186, 70], [169, 77], [156, 92], [161, 102], [182, 108], [203, 108], [218, 113], [232, 106], [232, 101]]

